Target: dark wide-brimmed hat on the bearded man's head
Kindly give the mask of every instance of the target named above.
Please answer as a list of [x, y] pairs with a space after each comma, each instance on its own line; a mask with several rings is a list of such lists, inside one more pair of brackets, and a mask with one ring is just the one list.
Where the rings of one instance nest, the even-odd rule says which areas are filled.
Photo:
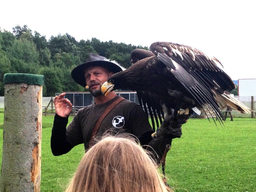
[[111, 62], [107, 58], [102, 57], [100, 55], [90, 53], [89, 58], [86, 60], [85, 63], [75, 67], [71, 71], [72, 79], [74, 79], [74, 81], [76, 81], [79, 85], [85, 87], [86, 80], [84, 77], [84, 70], [91, 66], [104, 67], [113, 73], [123, 71], [123, 69], [121, 68], [121, 66], [118, 65], [118, 63]]

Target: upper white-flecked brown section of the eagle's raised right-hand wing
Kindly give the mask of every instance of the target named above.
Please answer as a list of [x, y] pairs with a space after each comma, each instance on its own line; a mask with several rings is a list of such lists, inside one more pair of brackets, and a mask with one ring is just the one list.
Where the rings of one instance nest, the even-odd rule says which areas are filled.
[[168, 65], [170, 60], [175, 61], [194, 79], [214, 88], [220, 94], [236, 88], [232, 79], [222, 71], [220, 61], [198, 49], [170, 42], [155, 42], [151, 44], [150, 49], [165, 64]]

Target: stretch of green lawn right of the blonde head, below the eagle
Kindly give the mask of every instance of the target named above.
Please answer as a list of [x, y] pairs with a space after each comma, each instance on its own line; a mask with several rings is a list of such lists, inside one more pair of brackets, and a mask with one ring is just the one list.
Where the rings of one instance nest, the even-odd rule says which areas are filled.
[[190, 119], [168, 154], [170, 185], [176, 192], [256, 191], [255, 123], [237, 118], [216, 127]]

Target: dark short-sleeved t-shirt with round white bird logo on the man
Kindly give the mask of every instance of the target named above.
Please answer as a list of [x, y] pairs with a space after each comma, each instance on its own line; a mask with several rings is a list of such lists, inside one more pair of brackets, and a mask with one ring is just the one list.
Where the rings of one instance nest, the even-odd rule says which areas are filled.
[[[119, 97], [116, 96], [103, 104], [92, 104], [80, 109], [67, 127], [67, 141], [72, 146], [84, 143], [85, 148], [87, 148], [93, 127], [101, 114]], [[148, 117], [141, 106], [129, 100], [123, 100], [106, 115], [97, 134], [102, 134], [109, 129], [131, 133], [137, 138], [146, 132], [153, 132]]]

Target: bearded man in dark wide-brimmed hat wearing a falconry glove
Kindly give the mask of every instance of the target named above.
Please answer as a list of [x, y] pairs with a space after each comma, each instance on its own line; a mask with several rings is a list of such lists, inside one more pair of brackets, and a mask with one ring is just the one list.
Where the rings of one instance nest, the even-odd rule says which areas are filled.
[[[121, 98], [114, 91], [106, 97], [101, 93], [102, 84], [119, 71], [122, 68], [118, 64], [94, 54], [90, 54], [85, 63], [72, 70], [72, 78], [89, 89], [95, 103], [80, 109], [66, 128], [72, 103], [64, 99], [65, 93], [54, 98], [56, 114], [51, 136], [51, 150], [54, 155], [68, 153], [79, 144], [84, 144], [85, 149], [88, 149], [93, 145], [95, 135], [101, 135], [107, 130], [131, 133], [139, 139], [141, 145], [148, 145], [152, 141], [153, 129], [140, 105]], [[151, 142], [153, 151], [158, 154], [164, 153], [166, 142], [170, 143], [172, 138], [182, 134], [182, 123], [172, 121], [172, 118], [166, 119], [157, 138]]]

